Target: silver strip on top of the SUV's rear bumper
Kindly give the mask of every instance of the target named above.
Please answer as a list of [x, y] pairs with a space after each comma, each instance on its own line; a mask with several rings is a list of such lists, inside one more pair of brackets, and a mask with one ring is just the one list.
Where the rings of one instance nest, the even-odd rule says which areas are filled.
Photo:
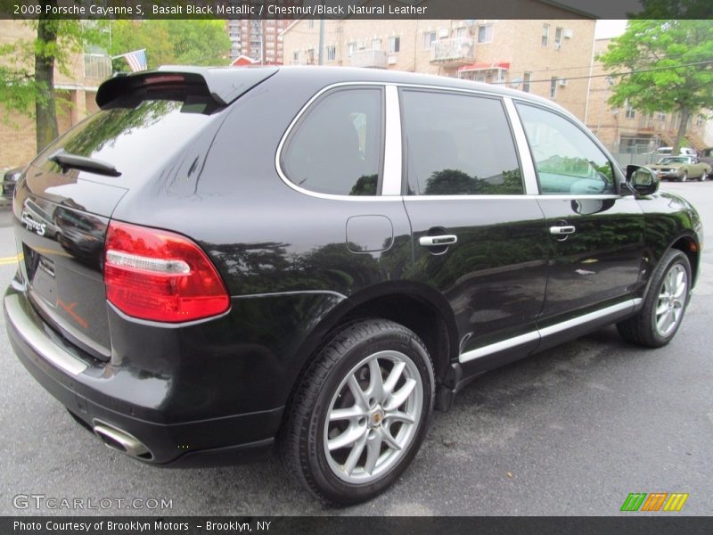
[[4, 305], [7, 317], [15, 331], [41, 358], [72, 375], [81, 374], [89, 367], [85, 362], [62, 350], [47, 338], [47, 335], [37, 328], [37, 325], [34, 325], [22, 310], [17, 295], [6, 296]]

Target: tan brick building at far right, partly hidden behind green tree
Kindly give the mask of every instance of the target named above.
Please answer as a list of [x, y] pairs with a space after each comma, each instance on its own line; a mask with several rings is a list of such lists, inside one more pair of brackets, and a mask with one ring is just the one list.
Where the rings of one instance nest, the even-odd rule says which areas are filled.
[[[596, 39], [594, 53], [605, 52], [610, 42], [611, 39]], [[612, 108], [607, 101], [616, 79], [607, 77], [607, 71], [596, 61], [592, 65], [592, 75], [586, 126], [612, 152], [641, 154], [652, 152], [660, 146], [673, 146], [681, 124], [680, 112], [644, 113], [629, 105]], [[696, 114], [688, 120], [684, 145], [701, 151], [709, 146], [704, 140], [707, 119]]]

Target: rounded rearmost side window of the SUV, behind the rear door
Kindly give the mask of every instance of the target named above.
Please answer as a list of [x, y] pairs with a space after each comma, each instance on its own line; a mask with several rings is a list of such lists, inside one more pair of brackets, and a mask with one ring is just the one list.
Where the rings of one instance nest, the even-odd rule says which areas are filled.
[[340, 89], [317, 100], [285, 144], [285, 176], [317, 193], [376, 195], [381, 95], [381, 88]]

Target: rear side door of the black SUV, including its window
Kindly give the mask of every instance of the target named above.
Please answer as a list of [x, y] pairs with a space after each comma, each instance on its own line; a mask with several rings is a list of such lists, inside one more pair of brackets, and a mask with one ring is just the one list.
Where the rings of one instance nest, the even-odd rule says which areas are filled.
[[525, 356], [539, 338], [547, 236], [505, 103], [406, 87], [399, 98], [412, 278], [453, 309], [466, 374]]

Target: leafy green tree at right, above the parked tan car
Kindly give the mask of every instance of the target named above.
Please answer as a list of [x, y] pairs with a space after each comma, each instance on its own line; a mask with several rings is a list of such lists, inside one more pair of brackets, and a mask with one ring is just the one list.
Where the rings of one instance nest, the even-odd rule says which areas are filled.
[[[631, 71], [619, 77], [609, 100], [638, 110], [680, 111], [674, 153], [688, 119], [713, 108], [713, 25], [710, 21], [629, 21], [600, 56], [607, 70]], [[687, 65], [680, 67], [679, 65]]]

